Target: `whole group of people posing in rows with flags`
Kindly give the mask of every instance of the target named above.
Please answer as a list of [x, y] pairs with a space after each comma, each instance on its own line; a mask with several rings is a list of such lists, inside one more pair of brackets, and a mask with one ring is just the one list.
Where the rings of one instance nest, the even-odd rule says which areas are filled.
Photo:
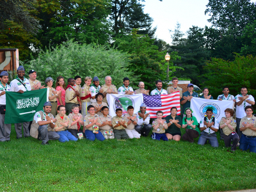
[[[47, 77], [45, 86], [36, 79], [36, 71], [29, 71], [29, 79], [24, 77], [25, 69], [17, 68], [17, 77], [10, 85], [8, 84], [8, 73], [3, 71], [0, 74], [0, 141], [10, 141], [11, 125], [4, 124], [4, 108], [6, 104], [5, 93], [33, 91], [42, 88], [49, 88], [49, 102], [45, 102], [44, 109], [37, 111], [31, 122], [15, 124], [17, 139], [22, 137], [22, 126], [24, 137], [32, 136], [42, 140], [42, 145], [47, 145], [49, 140], [77, 141], [85, 137], [88, 140], [100, 140], [116, 138], [123, 140], [127, 138], [147, 137], [152, 130], [153, 140], [175, 140], [180, 138], [191, 143], [198, 138], [198, 144], [204, 145], [209, 142], [212, 147], [218, 147], [216, 132], [221, 130], [221, 138], [225, 141], [225, 146], [231, 150], [236, 150], [239, 142], [242, 150], [250, 148], [251, 152], [256, 152], [256, 128], [255, 117], [252, 115], [252, 105], [255, 100], [252, 95], [247, 95], [247, 89], [241, 88], [241, 94], [234, 97], [229, 94], [228, 87], [223, 88], [223, 94], [218, 96], [218, 100], [234, 100], [236, 103], [236, 119], [233, 118], [234, 110], [226, 109], [225, 117], [218, 122], [212, 116], [212, 109], [207, 109], [205, 118], [196, 120], [192, 115], [193, 109], [190, 102], [193, 97], [199, 97], [193, 91], [193, 84], [188, 84], [188, 91], [182, 93], [179, 88], [177, 77], [172, 79], [172, 86], [167, 90], [163, 89], [160, 80], [156, 81], [156, 89], [150, 95], [170, 94], [179, 90], [180, 104], [183, 105], [182, 115], [177, 115], [177, 108], [173, 107], [169, 116], [163, 118], [163, 111], [157, 111], [157, 118], [150, 124], [150, 114], [147, 106], [141, 104], [140, 111], [134, 113], [134, 108], [129, 106], [127, 114], [122, 115], [122, 109], [116, 109], [116, 116], [109, 116], [107, 94], [132, 95], [143, 93], [149, 95], [149, 90], [145, 90], [145, 84], [140, 82], [138, 89], [133, 90], [129, 86], [129, 78], [125, 77], [123, 85], [116, 89], [111, 83], [111, 77], [105, 77], [105, 84], [100, 86], [98, 77], [85, 77], [84, 85], [81, 86], [82, 78], [76, 76], [67, 79], [64, 77], [56, 79], [55, 88], [52, 86], [54, 79]], [[209, 90], [204, 88], [202, 99], [213, 99], [209, 95]], [[3, 108], [3, 110], [2, 110]], [[3, 111], [3, 113], [2, 113]], [[83, 126], [83, 129], [81, 127]], [[186, 133], [181, 135], [180, 129], [186, 129]], [[237, 132], [236, 132], [237, 128]]]

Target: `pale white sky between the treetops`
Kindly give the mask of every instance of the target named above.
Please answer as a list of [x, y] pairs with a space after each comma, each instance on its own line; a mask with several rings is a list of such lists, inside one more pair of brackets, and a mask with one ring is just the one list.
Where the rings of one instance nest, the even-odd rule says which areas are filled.
[[207, 21], [210, 17], [205, 15], [208, 0], [145, 0], [144, 13], [148, 13], [154, 19], [153, 27], [157, 27], [156, 37], [172, 44], [171, 33], [177, 22], [180, 23], [180, 31], [186, 33], [192, 26], [204, 28], [211, 26]]

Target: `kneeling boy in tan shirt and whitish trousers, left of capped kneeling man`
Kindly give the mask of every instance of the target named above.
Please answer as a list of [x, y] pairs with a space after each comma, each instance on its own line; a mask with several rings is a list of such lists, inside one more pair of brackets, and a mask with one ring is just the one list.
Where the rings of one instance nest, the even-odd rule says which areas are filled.
[[140, 133], [138, 133], [134, 128], [137, 125], [137, 115], [133, 113], [134, 108], [132, 106], [128, 106], [127, 114], [125, 114], [124, 118], [127, 122], [127, 128], [125, 129], [130, 139], [140, 138]]

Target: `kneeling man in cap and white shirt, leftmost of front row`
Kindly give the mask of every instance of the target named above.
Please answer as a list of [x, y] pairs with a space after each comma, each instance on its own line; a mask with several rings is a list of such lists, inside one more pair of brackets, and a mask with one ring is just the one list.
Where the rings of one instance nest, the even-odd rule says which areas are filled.
[[59, 134], [54, 131], [54, 123], [57, 122], [57, 120], [52, 115], [51, 110], [51, 102], [45, 102], [44, 110], [35, 113], [31, 124], [31, 137], [42, 140], [42, 145], [48, 145], [49, 140], [58, 140], [60, 138]]

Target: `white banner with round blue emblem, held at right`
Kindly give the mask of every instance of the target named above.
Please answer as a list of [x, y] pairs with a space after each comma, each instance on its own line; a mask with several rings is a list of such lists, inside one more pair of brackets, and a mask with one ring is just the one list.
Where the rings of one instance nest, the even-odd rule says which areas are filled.
[[225, 109], [234, 109], [234, 101], [200, 99], [193, 97], [193, 99], [191, 99], [190, 108], [193, 111], [192, 115], [196, 117], [198, 122], [206, 116], [207, 109], [212, 109], [213, 116], [220, 122], [221, 118], [225, 116]]

